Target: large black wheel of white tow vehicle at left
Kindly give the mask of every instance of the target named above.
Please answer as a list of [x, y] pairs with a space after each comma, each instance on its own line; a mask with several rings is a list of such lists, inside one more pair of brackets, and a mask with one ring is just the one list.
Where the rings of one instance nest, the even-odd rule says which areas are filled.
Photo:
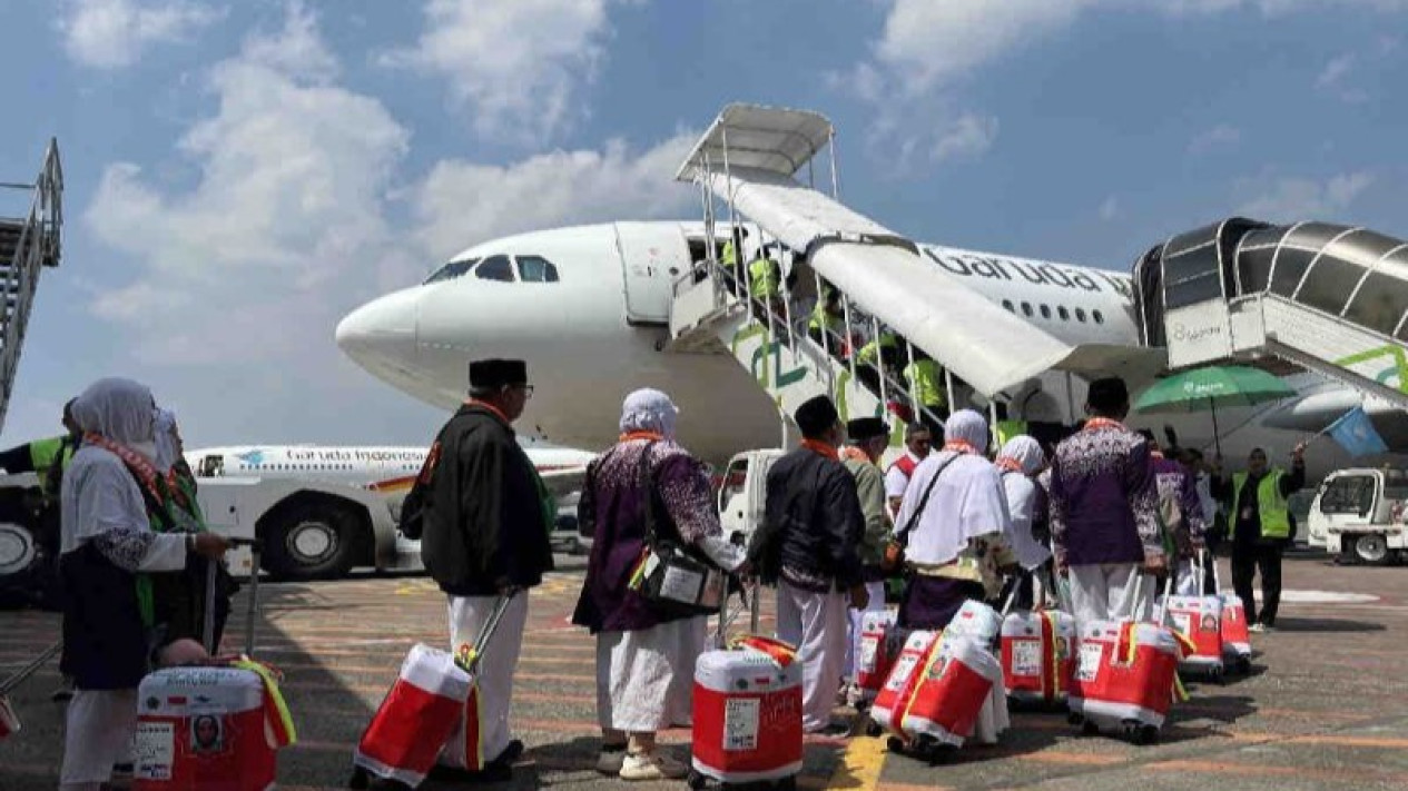
[[294, 505], [265, 528], [262, 564], [280, 580], [342, 577], [356, 559], [358, 528], [356, 515], [342, 505]]

